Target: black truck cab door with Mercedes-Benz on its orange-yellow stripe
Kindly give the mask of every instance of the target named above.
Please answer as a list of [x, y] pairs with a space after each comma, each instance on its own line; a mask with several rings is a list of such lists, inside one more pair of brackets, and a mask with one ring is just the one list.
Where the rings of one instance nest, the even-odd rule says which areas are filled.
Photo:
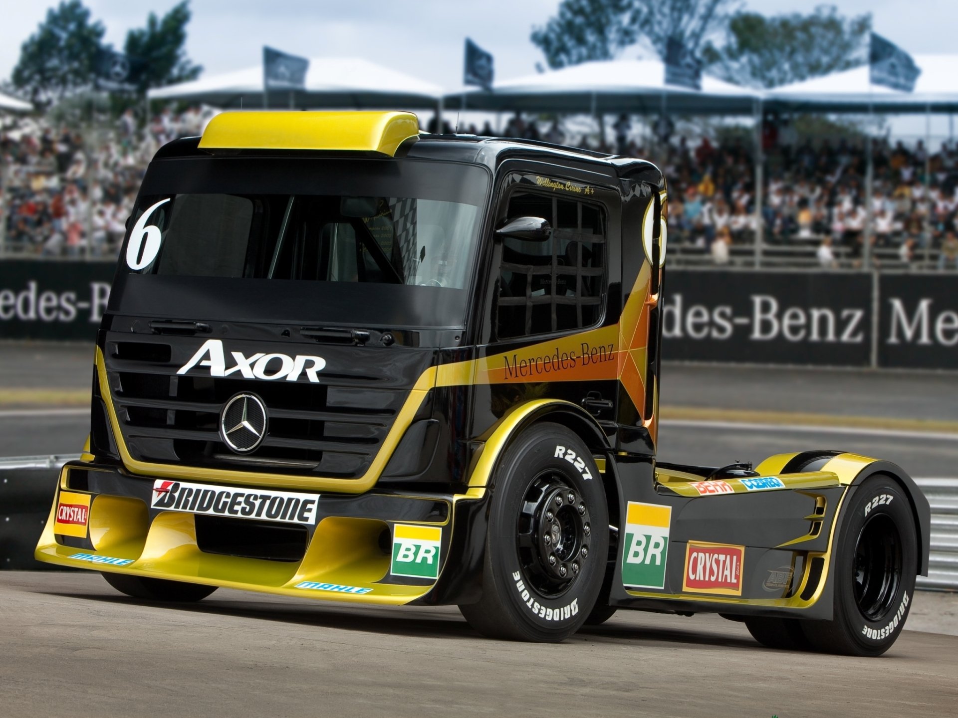
[[500, 185], [496, 227], [540, 217], [552, 236], [493, 242], [488, 344], [479, 353], [501, 364], [503, 381], [490, 386], [490, 408], [498, 417], [526, 400], [564, 399], [612, 433], [621, 310], [619, 194], [582, 181], [573, 170], [564, 176], [548, 168], [553, 173], [509, 173]]

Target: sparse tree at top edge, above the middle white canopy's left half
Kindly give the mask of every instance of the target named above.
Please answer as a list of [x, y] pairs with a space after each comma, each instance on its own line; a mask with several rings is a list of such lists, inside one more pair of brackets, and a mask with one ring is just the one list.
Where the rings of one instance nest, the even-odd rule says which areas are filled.
[[550, 67], [611, 59], [642, 40], [665, 57], [669, 37], [693, 53], [722, 29], [735, 0], [562, 0], [532, 41]]

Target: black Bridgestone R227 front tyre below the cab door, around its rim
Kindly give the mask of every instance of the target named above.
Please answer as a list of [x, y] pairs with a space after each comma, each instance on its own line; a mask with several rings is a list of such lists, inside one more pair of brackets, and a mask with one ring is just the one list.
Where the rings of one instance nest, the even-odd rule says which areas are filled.
[[[552, 427], [555, 427], [555, 433], [548, 431]], [[534, 440], [523, 446], [518, 454], [510, 451], [511, 460], [500, 467], [496, 478], [495, 491], [499, 500], [493, 506], [490, 521], [490, 564], [500, 591], [508, 596], [525, 622], [538, 630], [558, 628], [567, 631], [569, 626], [578, 628], [582, 625], [602, 587], [605, 561], [603, 558], [593, 561], [592, 558], [607, 554], [607, 529], [591, 532], [588, 557], [582, 562], [582, 572], [572, 586], [563, 595], [547, 597], [538, 593], [519, 565], [515, 548], [518, 506], [536, 476], [545, 470], [554, 470], [587, 502], [593, 529], [607, 527], [604, 487], [595, 460], [581, 439], [554, 424], [536, 426], [529, 430], [529, 434]], [[522, 439], [519, 438], [518, 442]], [[562, 457], [556, 456], [558, 446], [565, 449], [561, 452]], [[577, 459], [582, 458], [582, 468], [575, 465], [575, 460], [565, 459], [570, 451], [575, 452]], [[592, 478], [586, 479], [586, 476]], [[498, 546], [493, 547], [493, 542]]]

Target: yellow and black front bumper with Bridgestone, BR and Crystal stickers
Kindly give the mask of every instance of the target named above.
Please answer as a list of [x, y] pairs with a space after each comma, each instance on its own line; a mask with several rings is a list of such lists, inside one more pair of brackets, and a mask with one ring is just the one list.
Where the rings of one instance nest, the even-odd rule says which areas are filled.
[[[455, 584], [467, 581], [463, 559], [476, 563], [476, 542], [454, 541], [453, 524], [461, 516], [470, 517], [464, 527], [473, 525], [482, 490], [299, 492], [286, 512], [281, 490], [201, 485], [202, 500], [187, 495], [174, 504], [169, 491], [183, 493], [176, 482], [69, 462], [34, 555], [78, 569], [380, 605], [461, 600]], [[261, 516], [251, 510], [245, 518], [243, 499], [256, 505], [257, 491]], [[279, 504], [270, 505], [273, 495], [281, 495]]]

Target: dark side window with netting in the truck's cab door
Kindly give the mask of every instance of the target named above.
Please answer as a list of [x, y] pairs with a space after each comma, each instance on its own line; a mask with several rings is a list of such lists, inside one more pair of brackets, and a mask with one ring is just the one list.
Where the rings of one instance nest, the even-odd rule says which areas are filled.
[[579, 329], [602, 318], [605, 217], [599, 205], [516, 191], [507, 216], [543, 217], [552, 238], [506, 238], [493, 309], [494, 340]]

